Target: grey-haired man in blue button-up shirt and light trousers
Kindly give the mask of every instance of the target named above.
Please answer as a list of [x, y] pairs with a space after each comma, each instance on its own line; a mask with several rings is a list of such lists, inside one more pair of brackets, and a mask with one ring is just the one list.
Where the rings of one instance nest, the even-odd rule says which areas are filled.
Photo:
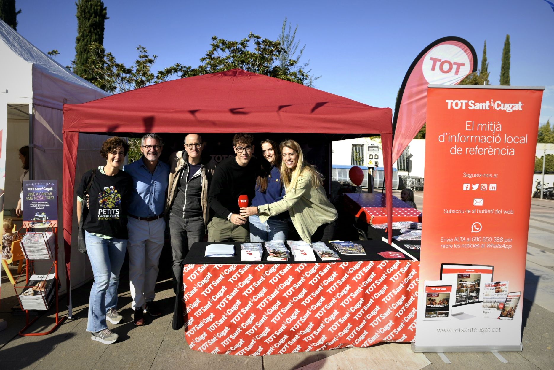
[[142, 157], [123, 168], [134, 183], [127, 214], [127, 251], [132, 308], [135, 310], [133, 323], [136, 326], [145, 325], [145, 312], [150, 316], [162, 313], [153, 302], [166, 229], [163, 210], [170, 173], [169, 166], [158, 161], [162, 148], [163, 141], [157, 134], [142, 136]]

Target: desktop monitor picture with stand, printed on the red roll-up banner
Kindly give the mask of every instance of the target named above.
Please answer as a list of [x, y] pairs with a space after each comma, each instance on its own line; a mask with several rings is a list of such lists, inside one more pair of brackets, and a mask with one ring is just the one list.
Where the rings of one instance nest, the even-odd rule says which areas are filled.
[[480, 316], [483, 301], [483, 284], [493, 281], [494, 266], [443, 263], [440, 265], [440, 280], [455, 281], [455, 297], [452, 316], [468, 320]]

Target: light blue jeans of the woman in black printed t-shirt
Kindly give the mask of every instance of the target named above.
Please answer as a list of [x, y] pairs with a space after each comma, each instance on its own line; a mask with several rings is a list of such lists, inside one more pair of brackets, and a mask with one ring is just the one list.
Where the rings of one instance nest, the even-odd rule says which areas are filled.
[[85, 243], [86, 253], [94, 273], [86, 331], [99, 332], [107, 328], [106, 312], [117, 306], [119, 271], [125, 259], [127, 240], [102, 239], [85, 231]]

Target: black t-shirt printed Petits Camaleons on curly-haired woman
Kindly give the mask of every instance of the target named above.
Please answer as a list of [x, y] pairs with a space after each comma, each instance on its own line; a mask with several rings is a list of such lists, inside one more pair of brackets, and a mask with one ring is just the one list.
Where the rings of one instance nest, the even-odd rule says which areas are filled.
[[[83, 207], [86, 207], [84, 192], [92, 173], [90, 170], [83, 175], [77, 189], [77, 195], [83, 198]], [[89, 187], [89, 212], [83, 221], [83, 229], [94, 234], [128, 239], [127, 205], [131, 199], [132, 186], [131, 175], [124, 171], [108, 176], [96, 170]]]

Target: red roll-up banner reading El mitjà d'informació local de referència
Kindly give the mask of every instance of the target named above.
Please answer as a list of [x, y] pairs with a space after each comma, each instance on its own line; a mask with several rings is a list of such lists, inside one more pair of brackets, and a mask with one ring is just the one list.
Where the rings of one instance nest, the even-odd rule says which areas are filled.
[[429, 85], [414, 352], [522, 349], [543, 89]]

